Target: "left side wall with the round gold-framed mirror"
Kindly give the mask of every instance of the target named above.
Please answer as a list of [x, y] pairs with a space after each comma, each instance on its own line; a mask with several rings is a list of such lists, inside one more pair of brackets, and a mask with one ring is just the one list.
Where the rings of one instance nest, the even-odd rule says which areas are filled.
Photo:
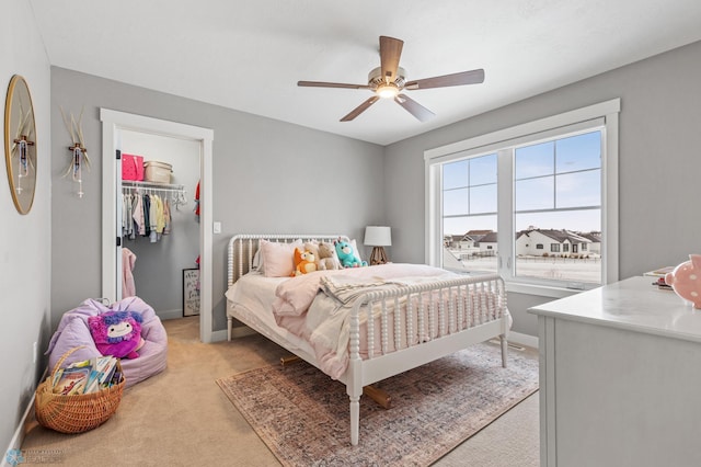
[[[42, 357], [50, 332], [50, 69], [28, 2], [2, 2], [0, 27], [0, 89], [13, 75], [26, 80], [34, 104], [37, 136], [37, 181], [32, 209], [14, 208], [4, 169], [0, 172], [0, 454], [7, 447], [27, 407], [46, 360]], [[4, 112], [0, 115], [4, 128]], [[4, 139], [4, 137], [2, 137]], [[4, 148], [4, 143], [3, 143]], [[34, 362], [33, 344], [37, 343]]]

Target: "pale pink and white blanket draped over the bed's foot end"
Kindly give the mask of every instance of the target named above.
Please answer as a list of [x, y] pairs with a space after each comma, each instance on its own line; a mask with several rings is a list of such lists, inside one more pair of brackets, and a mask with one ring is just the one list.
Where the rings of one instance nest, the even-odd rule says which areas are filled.
[[370, 291], [455, 277], [446, 270], [399, 263], [321, 271], [280, 283], [273, 314], [278, 326], [311, 343], [321, 369], [337, 379], [348, 364], [355, 298]]

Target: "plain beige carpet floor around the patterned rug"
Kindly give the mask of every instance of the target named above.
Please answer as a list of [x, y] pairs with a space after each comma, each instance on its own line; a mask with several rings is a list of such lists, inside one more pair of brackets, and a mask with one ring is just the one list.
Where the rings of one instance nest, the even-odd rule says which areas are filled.
[[[125, 390], [117, 412], [90, 432], [66, 435], [30, 420], [22, 445], [27, 464], [280, 465], [215, 380], [276, 364], [287, 352], [260, 335], [203, 344], [198, 317], [163, 324], [169, 334], [168, 368]], [[525, 354], [537, 358], [536, 352]], [[435, 465], [535, 467], [538, 463], [536, 392]]]

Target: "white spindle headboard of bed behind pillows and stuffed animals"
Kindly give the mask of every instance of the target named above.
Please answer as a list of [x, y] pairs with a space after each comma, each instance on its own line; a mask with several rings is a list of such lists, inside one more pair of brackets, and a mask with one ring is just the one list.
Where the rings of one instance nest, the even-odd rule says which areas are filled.
[[229, 239], [228, 253], [228, 281], [227, 288], [237, 282], [239, 277], [248, 273], [253, 264], [253, 257], [258, 251], [261, 240], [278, 241], [284, 243], [292, 242], [297, 239], [301, 241], [333, 241], [341, 238], [344, 241], [350, 241], [347, 236], [343, 235], [301, 235], [301, 234], [240, 234]]

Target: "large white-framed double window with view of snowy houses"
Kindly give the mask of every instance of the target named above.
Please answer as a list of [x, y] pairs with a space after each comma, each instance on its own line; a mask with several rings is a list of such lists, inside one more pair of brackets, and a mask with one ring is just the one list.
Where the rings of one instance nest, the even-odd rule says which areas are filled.
[[[498, 272], [525, 292], [616, 281], [619, 109], [608, 101], [426, 151], [428, 263]], [[467, 254], [449, 248], [453, 236], [474, 240]]]

